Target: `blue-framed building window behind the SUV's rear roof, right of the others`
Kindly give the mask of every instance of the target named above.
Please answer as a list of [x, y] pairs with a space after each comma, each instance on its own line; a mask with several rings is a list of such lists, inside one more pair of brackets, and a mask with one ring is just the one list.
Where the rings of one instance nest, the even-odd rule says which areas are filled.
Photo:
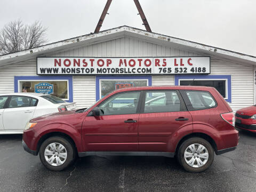
[[231, 102], [230, 75], [177, 75], [175, 85], [211, 86], [217, 89], [226, 101]]

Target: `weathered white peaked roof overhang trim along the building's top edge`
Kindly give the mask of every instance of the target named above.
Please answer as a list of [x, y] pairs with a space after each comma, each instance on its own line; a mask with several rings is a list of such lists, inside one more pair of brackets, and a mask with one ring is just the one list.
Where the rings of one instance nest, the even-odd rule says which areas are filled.
[[42, 57], [55, 51], [64, 51], [68, 49], [74, 49], [75, 47], [79, 46], [108, 41], [118, 38], [118, 36], [131, 36], [135, 38], [145, 39], [145, 41], [164, 46], [177, 47], [186, 51], [202, 53], [202, 55], [211, 55], [223, 59], [235, 60], [236, 62], [244, 62], [250, 63], [251, 65], [256, 65], [256, 57], [253, 57], [251, 55], [220, 49], [218, 47], [191, 42], [180, 38], [150, 33], [148, 31], [129, 26], [122, 26], [105, 31], [100, 31], [99, 33], [87, 34], [51, 44], [46, 44], [30, 50], [23, 50], [11, 54], [1, 55], [0, 66], [8, 65], [14, 62], [29, 60], [38, 56]]

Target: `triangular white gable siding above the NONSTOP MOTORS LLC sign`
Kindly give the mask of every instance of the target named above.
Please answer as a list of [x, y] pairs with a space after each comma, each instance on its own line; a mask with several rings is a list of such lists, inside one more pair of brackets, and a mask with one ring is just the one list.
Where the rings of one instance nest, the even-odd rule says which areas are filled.
[[[161, 46], [138, 38], [122, 37], [89, 46], [82, 46], [68, 51], [55, 52], [52, 57], [164, 57], [196, 56], [195, 52]], [[202, 55], [202, 54], [201, 54]]]

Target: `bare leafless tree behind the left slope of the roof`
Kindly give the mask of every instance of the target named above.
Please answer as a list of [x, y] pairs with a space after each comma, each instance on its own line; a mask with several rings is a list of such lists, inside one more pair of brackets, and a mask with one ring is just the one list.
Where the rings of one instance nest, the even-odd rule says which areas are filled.
[[46, 42], [46, 28], [39, 21], [23, 25], [19, 19], [8, 23], [0, 30], [0, 54], [31, 49]]

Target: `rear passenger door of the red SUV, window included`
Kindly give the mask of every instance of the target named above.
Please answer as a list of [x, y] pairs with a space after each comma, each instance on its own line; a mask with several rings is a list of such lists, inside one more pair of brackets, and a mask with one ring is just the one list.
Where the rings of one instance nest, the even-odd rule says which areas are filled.
[[139, 151], [171, 152], [174, 133], [188, 126], [193, 131], [193, 121], [179, 91], [159, 90], [143, 93], [139, 117]]

